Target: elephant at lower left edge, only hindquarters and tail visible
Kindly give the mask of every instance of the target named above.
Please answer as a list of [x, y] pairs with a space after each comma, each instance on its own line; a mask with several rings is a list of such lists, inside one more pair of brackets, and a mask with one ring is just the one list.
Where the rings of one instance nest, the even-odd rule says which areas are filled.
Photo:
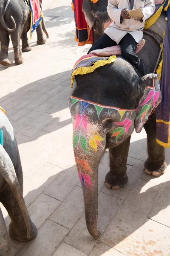
[[[6, 115], [0, 110], [0, 202], [11, 218], [9, 234], [18, 241], [30, 241], [37, 236], [37, 228], [31, 221], [23, 199], [23, 171], [14, 130]], [[13, 256], [6, 224], [0, 209], [0, 255]]]

